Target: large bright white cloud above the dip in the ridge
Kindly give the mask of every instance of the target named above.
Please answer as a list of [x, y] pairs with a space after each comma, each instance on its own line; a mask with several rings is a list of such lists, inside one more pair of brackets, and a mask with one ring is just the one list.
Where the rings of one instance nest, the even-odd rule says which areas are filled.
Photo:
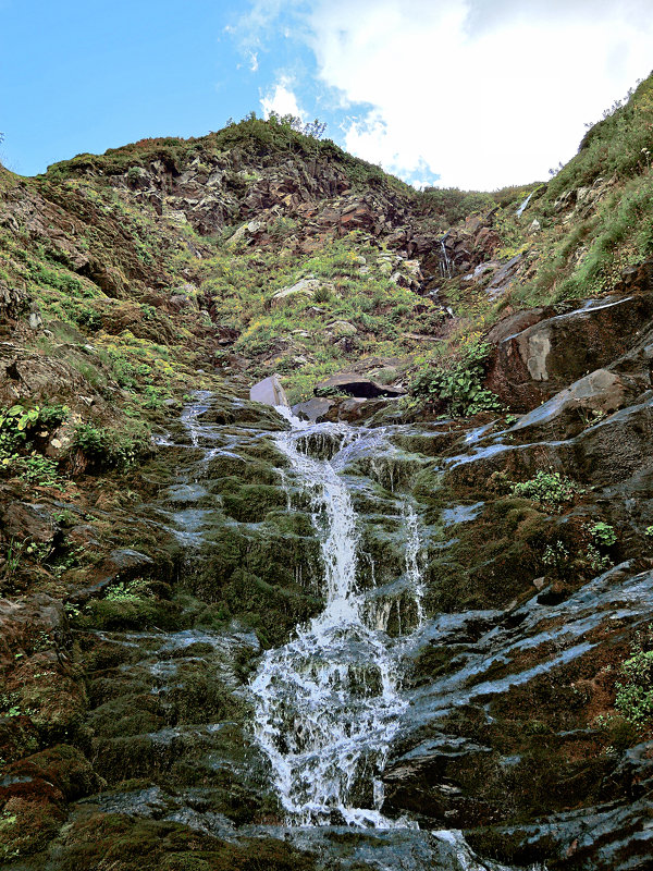
[[[369, 113], [346, 147], [403, 175], [547, 177], [651, 61], [648, 0], [318, 0], [319, 76]], [[628, 14], [627, 14], [628, 13]], [[422, 172], [423, 175], [423, 172]]]

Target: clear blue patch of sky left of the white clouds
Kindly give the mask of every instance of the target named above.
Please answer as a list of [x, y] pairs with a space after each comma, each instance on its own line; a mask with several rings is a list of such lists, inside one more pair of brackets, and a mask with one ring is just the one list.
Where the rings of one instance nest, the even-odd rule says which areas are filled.
[[201, 135], [260, 108], [224, 33], [233, 12], [201, 0], [4, 0], [5, 164], [33, 174], [146, 136]]

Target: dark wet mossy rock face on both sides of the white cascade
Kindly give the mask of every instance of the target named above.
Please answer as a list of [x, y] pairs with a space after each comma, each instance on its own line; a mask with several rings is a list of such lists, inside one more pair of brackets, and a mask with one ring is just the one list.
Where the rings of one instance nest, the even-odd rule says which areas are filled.
[[[504, 454], [540, 457], [540, 449], [502, 445], [501, 434], [481, 431], [464, 437], [468, 453], [461, 455], [460, 434], [442, 425], [370, 429], [362, 441], [354, 431], [343, 467], [367, 554], [359, 564], [366, 613], [397, 658], [403, 707], [381, 777], [382, 812], [398, 827], [283, 827], [270, 761], [248, 725], [249, 680], [260, 667], [261, 641], [283, 643], [322, 606], [318, 540], [300, 510], [300, 491], [288, 512], [283, 479], [287, 487], [292, 473], [270, 438], [275, 430], [239, 421], [250, 415], [246, 405], [232, 406], [229, 424], [212, 422], [224, 419], [224, 407], [208, 395], [188, 406], [182, 426], [165, 438], [176, 479], [159, 477], [157, 499], [141, 508], [177, 541], [184, 556], [176, 574], [152, 572], [157, 563], [141, 553], [116, 552], [106, 578], [72, 596], [72, 623], [45, 599], [19, 602], [3, 616], [7, 639], [22, 625], [57, 639], [41, 665], [54, 682], [48, 728], [53, 716], [76, 724], [73, 746], [58, 745], [49, 756], [38, 749], [41, 736], [12, 738], [33, 740], [36, 752], [4, 770], [4, 807], [25, 814], [21, 802], [28, 801], [28, 812], [40, 814], [16, 848], [39, 857], [67, 819], [67, 834], [48, 854], [53, 869], [89, 861], [82, 857], [101, 843], [108, 824], [125, 844], [195, 833], [213, 859], [223, 850], [249, 855], [254, 838], [279, 868], [322, 868], [325, 856], [343, 869], [401, 862], [416, 871], [552, 859], [588, 868], [637, 867], [638, 856], [644, 861], [651, 745], [638, 744], [628, 726], [597, 725], [594, 712], [609, 710], [613, 670], [653, 618], [653, 574], [636, 560], [597, 575], [584, 566], [578, 577], [557, 576], [541, 562], [544, 542], [559, 535], [570, 547], [582, 539], [579, 525], [486, 489], [496, 454], [500, 468], [513, 468]], [[579, 455], [579, 439], [591, 444], [599, 438], [596, 428], [621, 427], [621, 418], [611, 425], [614, 417], [575, 437], [565, 449], [569, 456]], [[276, 416], [276, 431], [286, 426]], [[340, 450], [319, 425], [303, 439], [316, 457]], [[496, 453], [484, 446], [488, 440]], [[549, 450], [559, 456], [563, 444]], [[632, 471], [641, 476], [644, 461], [641, 450], [636, 453]], [[627, 461], [615, 462], [607, 477], [589, 464], [592, 480], [623, 483]], [[465, 467], [480, 470], [460, 477]], [[618, 524], [625, 540], [637, 535], [628, 531], [624, 496], [613, 492], [606, 512], [604, 492], [580, 496], [578, 516], [595, 517], [602, 505], [601, 516]], [[397, 500], [401, 505], [407, 498], [415, 500], [419, 524], [411, 559], [423, 588], [421, 617], [405, 586]], [[514, 517], [517, 542], [513, 560], [495, 538], [507, 517]], [[646, 522], [638, 516], [640, 530]], [[280, 547], [283, 562], [275, 557]], [[619, 548], [626, 550], [625, 542]], [[542, 569], [544, 582], [537, 585]], [[61, 659], [57, 650], [69, 652]], [[15, 671], [13, 653], [5, 660]], [[76, 689], [79, 667], [83, 692]], [[75, 694], [78, 703], [71, 707]], [[65, 713], [56, 715], [63, 697]], [[631, 833], [627, 843], [624, 831]], [[486, 857], [483, 866], [475, 864], [481, 861], [475, 852]]]

